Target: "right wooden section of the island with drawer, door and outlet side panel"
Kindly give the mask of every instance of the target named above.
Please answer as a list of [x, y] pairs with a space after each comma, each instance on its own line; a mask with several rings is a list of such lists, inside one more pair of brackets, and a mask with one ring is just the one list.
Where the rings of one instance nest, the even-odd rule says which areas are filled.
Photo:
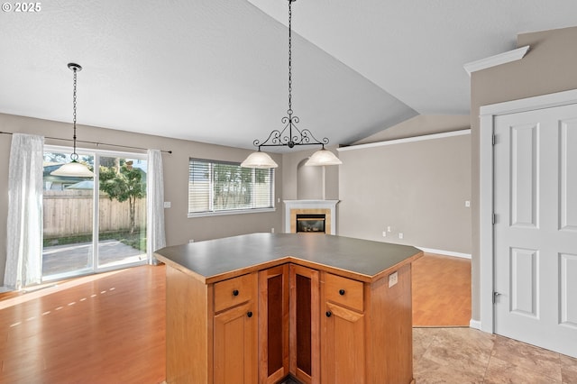
[[363, 283], [321, 272], [321, 382], [413, 382], [410, 264]]

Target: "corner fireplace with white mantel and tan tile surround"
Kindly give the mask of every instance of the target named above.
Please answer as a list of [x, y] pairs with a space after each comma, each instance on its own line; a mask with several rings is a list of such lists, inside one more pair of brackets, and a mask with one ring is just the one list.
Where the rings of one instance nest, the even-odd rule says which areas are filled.
[[[338, 202], [338, 200], [285, 200], [284, 232], [336, 234]], [[301, 225], [300, 229], [298, 225]]]

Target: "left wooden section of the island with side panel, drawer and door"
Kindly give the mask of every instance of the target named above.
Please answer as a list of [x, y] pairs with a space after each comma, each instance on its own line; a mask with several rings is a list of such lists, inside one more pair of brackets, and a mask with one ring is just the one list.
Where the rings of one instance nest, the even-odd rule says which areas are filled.
[[257, 382], [257, 273], [205, 284], [166, 270], [167, 382]]

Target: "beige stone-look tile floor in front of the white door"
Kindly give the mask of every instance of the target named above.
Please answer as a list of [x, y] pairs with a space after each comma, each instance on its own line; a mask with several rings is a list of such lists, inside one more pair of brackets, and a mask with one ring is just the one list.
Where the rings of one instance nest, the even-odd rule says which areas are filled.
[[472, 328], [413, 328], [417, 384], [577, 384], [577, 359]]

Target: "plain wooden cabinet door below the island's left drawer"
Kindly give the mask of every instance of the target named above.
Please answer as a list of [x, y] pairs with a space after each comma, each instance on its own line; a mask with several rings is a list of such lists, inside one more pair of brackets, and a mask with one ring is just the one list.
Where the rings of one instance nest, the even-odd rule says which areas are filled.
[[215, 383], [257, 381], [257, 318], [254, 302], [215, 315]]

